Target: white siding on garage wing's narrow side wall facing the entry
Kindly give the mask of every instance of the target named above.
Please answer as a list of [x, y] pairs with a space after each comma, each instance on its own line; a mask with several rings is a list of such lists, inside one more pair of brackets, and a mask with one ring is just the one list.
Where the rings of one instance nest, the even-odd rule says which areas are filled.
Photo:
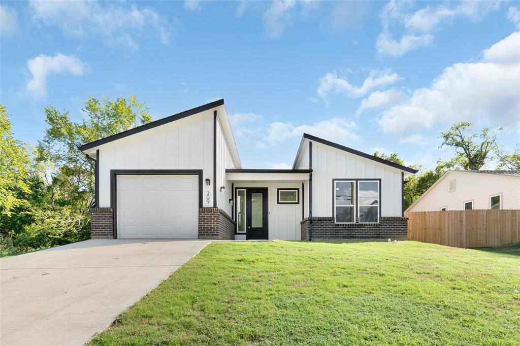
[[[231, 198], [231, 184], [228, 184], [226, 178], [226, 169], [235, 168], [233, 158], [229, 150], [226, 137], [222, 130], [222, 125], [217, 117], [217, 132], [216, 132], [216, 143], [217, 143], [217, 176], [216, 176], [216, 187], [217, 187], [217, 207], [223, 209], [228, 215], [231, 215], [231, 204], [229, 199]], [[220, 191], [220, 187], [225, 189]]]

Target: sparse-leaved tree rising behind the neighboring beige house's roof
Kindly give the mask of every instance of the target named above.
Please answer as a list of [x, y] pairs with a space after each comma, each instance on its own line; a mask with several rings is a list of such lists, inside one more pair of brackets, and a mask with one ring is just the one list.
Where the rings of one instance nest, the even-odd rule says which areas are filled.
[[491, 154], [497, 145], [497, 132], [501, 130], [502, 127], [485, 127], [477, 134], [469, 122], [456, 123], [448, 131], [440, 132], [439, 137], [443, 139], [440, 148], [450, 147], [454, 150], [456, 156], [448, 162], [451, 167], [480, 169], [492, 158]]

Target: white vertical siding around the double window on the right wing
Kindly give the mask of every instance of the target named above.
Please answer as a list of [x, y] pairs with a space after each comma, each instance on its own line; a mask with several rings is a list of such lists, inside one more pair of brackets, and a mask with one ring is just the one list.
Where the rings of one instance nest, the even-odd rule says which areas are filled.
[[401, 170], [313, 142], [313, 217], [332, 215], [332, 179], [381, 179], [381, 216], [401, 216]]

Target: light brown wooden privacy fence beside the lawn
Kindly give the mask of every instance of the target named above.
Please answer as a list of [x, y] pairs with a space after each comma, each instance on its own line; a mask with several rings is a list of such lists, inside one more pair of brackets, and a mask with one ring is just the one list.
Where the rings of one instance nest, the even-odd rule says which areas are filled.
[[412, 211], [405, 216], [408, 240], [462, 248], [520, 242], [520, 210]]

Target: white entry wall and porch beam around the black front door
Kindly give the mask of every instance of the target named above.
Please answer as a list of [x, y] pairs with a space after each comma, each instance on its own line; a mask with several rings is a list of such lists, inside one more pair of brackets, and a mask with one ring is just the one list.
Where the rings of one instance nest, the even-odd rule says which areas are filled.
[[[236, 181], [235, 189], [267, 188], [269, 239], [301, 240], [302, 227], [302, 183], [284, 181]], [[300, 203], [277, 204], [277, 189], [298, 189]], [[307, 201], [307, 199], [306, 199]], [[305, 202], [307, 203], [307, 202]], [[238, 236], [237, 239], [245, 239]]]

